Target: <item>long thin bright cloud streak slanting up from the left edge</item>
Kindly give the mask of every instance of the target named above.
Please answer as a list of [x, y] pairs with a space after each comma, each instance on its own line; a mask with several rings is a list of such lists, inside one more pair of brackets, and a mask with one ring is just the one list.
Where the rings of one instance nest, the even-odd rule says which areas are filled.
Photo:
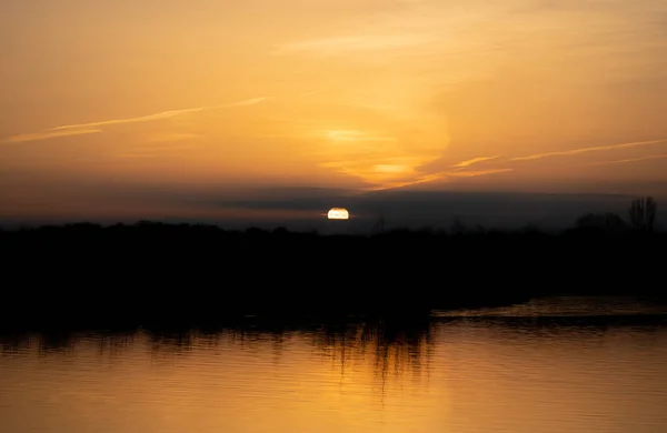
[[139, 122], [149, 122], [155, 120], [170, 119], [177, 115], [183, 115], [189, 113], [196, 113], [200, 111], [209, 111], [209, 110], [220, 110], [228, 109], [235, 107], [246, 107], [253, 105], [270, 99], [270, 97], [262, 98], [252, 98], [243, 101], [231, 102], [220, 105], [210, 105], [210, 107], [197, 107], [183, 110], [171, 110], [171, 111], [162, 111], [159, 113], [140, 115], [137, 118], [127, 118], [127, 119], [113, 119], [113, 120], [102, 120], [98, 122], [89, 122], [89, 123], [78, 123], [78, 124], [66, 124], [61, 127], [56, 127], [48, 129], [42, 132], [33, 132], [9, 137], [0, 141], [0, 143], [20, 143], [27, 141], [38, 141], [38, 140], [47, 140], [59, 137], [69, 137], [69, 135], [82, 135], [82, 134], [91, 134], [102, 132], [100, 127], [110, 127], [116, 124], [126, 124], [126, 123], [139, 123]]

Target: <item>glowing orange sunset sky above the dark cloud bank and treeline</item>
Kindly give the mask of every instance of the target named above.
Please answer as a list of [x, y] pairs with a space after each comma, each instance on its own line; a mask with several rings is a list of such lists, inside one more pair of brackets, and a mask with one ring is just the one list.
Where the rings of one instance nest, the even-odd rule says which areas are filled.
[[6, 0], [0, 41], [0, 219], [667, 198], [663, 0]]

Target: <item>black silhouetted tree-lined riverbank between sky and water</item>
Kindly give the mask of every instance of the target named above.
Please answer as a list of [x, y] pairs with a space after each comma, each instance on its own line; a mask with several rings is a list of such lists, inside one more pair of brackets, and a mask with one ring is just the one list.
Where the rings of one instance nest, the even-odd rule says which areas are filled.
[[3, 325], [422, 314], [559, 293], [664, 295], [667, 238], [575, 230], [322, 236], [76, 224], [0, 232]]

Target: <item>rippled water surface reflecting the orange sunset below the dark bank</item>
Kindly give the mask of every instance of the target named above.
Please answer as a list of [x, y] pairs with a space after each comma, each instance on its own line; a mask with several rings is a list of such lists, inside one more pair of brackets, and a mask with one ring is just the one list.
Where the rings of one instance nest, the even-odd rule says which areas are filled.
[[540, 302], [409, 326], [3, 336], [0, 432], [667, 431], [665, 318], [589, 300], [597, 319], [540, 321], [575, 308]]

